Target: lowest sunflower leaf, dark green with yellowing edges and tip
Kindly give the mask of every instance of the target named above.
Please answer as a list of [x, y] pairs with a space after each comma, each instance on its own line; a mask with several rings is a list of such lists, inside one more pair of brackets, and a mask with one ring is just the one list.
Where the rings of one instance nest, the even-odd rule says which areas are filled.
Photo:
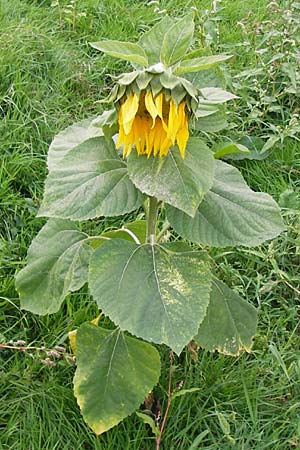
[[158, 351], [150, 344], [85, 323], [77, 331], [74, 392], [96, 434], [133, 413], [157, 384]]

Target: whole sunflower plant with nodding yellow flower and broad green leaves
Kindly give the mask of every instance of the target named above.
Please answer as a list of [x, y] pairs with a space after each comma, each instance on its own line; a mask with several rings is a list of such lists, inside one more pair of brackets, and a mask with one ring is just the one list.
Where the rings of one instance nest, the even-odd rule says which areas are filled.
[[[39, 210], [49, 220], [16, 278], [22, 308], [35, 314], [57, 312], [88, 283], [110, 319], [108, 328], [94, 320], [71, 334], [75, 396], [97, 434], [158, 383], [161, 344], [177, 355], [191, 341], [228, 355], [250, 351], [256, 310], [216, 277], [207, 249], [256, 246], [284, 230], [275, 201], [221, 159], [247, 149], [213, 151], [200, 137], [226, 127], [224, 103], [235, 96], [209, 75], [230, 56], [190, 50], [193, 34], [192, 15], [165, 17], [138, 43], [91, 44], [133, 71], [117, 77], [105, 100], [112, 109], [50, 145]], [[143, 218], [121, 229], [84, 231], [88, 220], [142, 208]], [[169, 227], [185, 241], [168, 241]]]

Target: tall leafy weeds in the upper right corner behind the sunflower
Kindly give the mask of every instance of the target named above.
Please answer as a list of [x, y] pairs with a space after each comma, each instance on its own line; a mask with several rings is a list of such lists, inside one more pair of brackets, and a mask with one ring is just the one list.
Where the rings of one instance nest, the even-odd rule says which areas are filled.
[[230, 136], [237, 140], [251, 136], [254, 149], [266, 157], [268, 150], [288, 138], [299, 142], [300, 4], [271, 1], [262, 8], [262, 3], [245, 11], [242, 19], [235, 15], [230, 36], [224, 36], [229, 7], [227, 2], [217, 2], [216, 11], [205, 17], [203, 28], [211, 48], [236, 55], [242, 52], [243, 57], [236, 60], [236, 74], [233, 67], [227, 79], [240, 96], [230, 111], [234, 122]]

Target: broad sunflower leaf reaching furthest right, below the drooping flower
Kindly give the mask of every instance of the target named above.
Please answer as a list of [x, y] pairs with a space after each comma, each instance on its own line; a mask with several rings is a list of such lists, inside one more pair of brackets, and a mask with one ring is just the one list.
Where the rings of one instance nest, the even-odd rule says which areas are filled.
[[195, 217], [172, 207], [167, 207], [167, 217], [185, 239], [215, 247], [259, 245], [285, 230], [272, 197], [252, 191], [235, 167], [220, 160], [213, 187]]

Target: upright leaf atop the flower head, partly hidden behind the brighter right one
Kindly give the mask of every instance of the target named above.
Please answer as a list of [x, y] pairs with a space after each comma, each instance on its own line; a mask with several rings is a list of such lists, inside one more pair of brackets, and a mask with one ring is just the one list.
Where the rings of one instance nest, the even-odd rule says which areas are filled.
[[140, 38], [139, 44], [148, 56], [149, 65], [156, 64], [160, 60], [160, 51], [166, 30], [169, 30], [173, 25], [174, 20], [166, 16]]

